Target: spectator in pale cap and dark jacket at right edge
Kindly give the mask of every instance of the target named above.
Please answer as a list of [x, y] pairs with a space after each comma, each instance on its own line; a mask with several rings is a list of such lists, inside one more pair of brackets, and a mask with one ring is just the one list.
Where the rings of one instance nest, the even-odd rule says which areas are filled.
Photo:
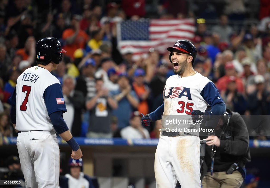
[[254, 77], [256, 89], [248, 95], [248, 109], [251, 115], [270, 114], [270, 93], [265, 88], [265, 79], [262, 75]]

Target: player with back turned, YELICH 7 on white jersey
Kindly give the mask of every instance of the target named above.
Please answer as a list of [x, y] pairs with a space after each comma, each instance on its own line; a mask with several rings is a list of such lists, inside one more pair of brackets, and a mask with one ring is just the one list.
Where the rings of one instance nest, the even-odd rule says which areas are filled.
[[58, 187], [59, 146], [56, 132], [72, 148], [71, 157], [82, 151], [72, 137], [63, 113], [62, 87], [50, 72], [62, 61], [58, 39], [43, 38], [36, 44], [37, 66], [26, 69], [17, 79], [11, 96], [11, 120], [18, 131], [17, 148], [26, 187]]

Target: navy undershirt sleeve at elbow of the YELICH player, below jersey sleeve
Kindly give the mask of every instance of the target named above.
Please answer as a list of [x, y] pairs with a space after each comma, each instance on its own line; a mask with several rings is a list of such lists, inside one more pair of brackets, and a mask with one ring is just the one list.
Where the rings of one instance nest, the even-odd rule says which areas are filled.
[[56, 111], [51, 113], [50, 120], [52, 122], [53, 128], [58, 134], [69, 130], [65, 120], [63, 119], [62, 111]]

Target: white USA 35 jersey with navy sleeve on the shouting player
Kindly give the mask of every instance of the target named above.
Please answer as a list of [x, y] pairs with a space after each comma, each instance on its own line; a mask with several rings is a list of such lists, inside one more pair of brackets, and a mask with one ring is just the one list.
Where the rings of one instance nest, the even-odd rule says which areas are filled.
[[[215, 85], [207, 77], [204, 77], [198, 72], [193, 76], [183, 78], [179, 75], [170, 76], [164, 87], [163, 98], [164, 112], [162, 117], [162, 131], [166, 131], [166, 128], [175, 129], [178, 126], [181, 128], [198, 129], [199, 124], [181, 123], [180, 125], [166, 125], [164, 120], [172, 118], [178, 118], [179, 120], [179, 116], [183, 116], [185, 120], [192, 120], [191, 112], [193, 110], [204, 112], [208, 104], [212, 107], [214, 104], [223, 102]], [[194, 135], [198, 136], [198, 133]]]

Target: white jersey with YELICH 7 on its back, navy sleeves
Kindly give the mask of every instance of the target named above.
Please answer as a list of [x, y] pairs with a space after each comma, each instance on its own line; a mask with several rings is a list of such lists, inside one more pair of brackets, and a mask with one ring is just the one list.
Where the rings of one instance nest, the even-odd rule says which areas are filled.
[[[16, 94], [16, 101], [15, 95]], [[26, 69], [17, 79], [16, 127], [18, 131], [54, 130], [49, 115], [66, 112], [59, 80], [45, 68], [34, 66]]]

